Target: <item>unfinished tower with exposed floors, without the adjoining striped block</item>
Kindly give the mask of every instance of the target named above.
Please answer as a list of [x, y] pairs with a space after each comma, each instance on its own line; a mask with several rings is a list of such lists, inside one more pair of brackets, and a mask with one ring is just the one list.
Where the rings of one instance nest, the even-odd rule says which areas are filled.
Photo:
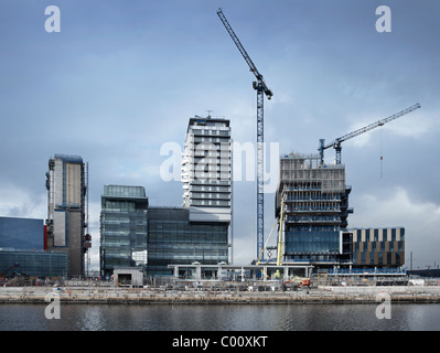
[[280, 159], [276, 216], [282, 207], [283, 261], [315, 266], [351, 260], [345, 165], [320, 163], [319, 154], [290, 153]]

